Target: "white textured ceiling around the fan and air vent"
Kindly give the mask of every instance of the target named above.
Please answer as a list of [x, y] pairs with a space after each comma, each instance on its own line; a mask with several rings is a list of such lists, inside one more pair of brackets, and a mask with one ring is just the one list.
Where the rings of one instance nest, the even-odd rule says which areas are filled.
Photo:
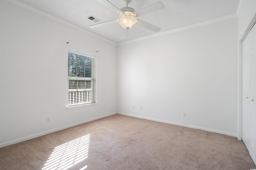
[[[118, 18], [117, 13], [97, 0], [19, 1], [115, 43], [156, 34], [144, 27], [134, 25], [130, 29], [127, 39], [121, 39], [121, 36], [126, 33], [126, 29], [118, 25], [117, 22], [102, 27], [89, 28], [90, 25], [96, 24], [88, 19], [89, 16], [99, 19], [100, 21], [97, 23]], [[126, 6], [123, 0], [108, 1], [119, 9]], [[165, 8], [163, 10], [140, 16], [138, 19], [161, 27], [159, 33], [236, 14], [239, 4], [239, 0], [132, 0], [128, 6], [134, 8], [134, 10], [139, 10], [158, 1], [164, 4]]]

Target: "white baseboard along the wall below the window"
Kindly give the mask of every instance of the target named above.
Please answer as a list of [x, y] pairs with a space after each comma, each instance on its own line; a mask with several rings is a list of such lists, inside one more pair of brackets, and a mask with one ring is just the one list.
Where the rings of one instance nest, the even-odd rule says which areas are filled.
[[60, 131], [60, 130], [63, 130], [63, 129], [67, 129], [69, 127], [73, 127], [73, 126], [77, 126], [77, 125], [81, 125], [83, 123], [87, 123], [87, 122], [90, 122], [90, 121], [94, 121], [94, 120], [97, 120], [97, 119], [101, 119], [103, 117], [108, 117], [110, 115], [114, 115], [116, 114], [117, 112], [114, 112], [114, 113], [110, 113], [110, 114], [107, 114], [107, 115], [103, 115], [103, 116], [99, 116], [99, 117], [94, 117], [92, 119], [87, 119], [85, 121], [81, 121], [81, 122], [78, 122], [78, 123], [74, 123], [74, 124], [71, 124], [71, 125], [66, 125], [66, 126], [63, 126], [63, 127], [59, 127], [59, 128], [56, 128], [56, 129], [52, 129], [50, 131], [45, 131], [45, 132], [42, 132], [42, 133], [37, 133], [35, 135], [31, 135], [31, 136], [27, 136], [27, 137], [23, 137], [23, 138], [20, 138], [20, 139], [15, 139], [13, 141], [8, 141], [6, 143], [2, 143], [0, 144], [0, 148], [2, 147], [7, 147], [9, 145], [13, 145], [13, 144], [16, 144], [16, 143], [20, 143], [20, 142], [23, 142], [23, 141], [27, 141], [29, 139], [33, 139], [33, 138], [36, 138], [36, 137], [40, 137], [40, 136], [43, 136], [43, 135], [47, 135], [49, 133], [53, 133], [53, 132], [56, 132], [56, 131]]

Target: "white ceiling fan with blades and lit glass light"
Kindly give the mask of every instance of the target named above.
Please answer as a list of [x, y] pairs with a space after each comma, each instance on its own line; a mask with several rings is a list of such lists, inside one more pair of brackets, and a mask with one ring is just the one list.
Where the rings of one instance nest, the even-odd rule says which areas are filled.
[[126, 3], [126, 7], [121, 8], [121, 9], [114, 6], [108, 0], [98, 0], [98, 1], [101, 2], [102, 4], [104, 4], [106, 7], [110, 8], [112, 11], [118, 13], [119, 18], [116, 20], [110, 20], [110, 21], [105, 21], [102, 23], [90, 25], [89, 26], [90, 28], [100, 27], [100, 26], [103, 26], [103, 25], [106, 25], [109, 23], [118, 22], [123, 28], [127, 29], [127, 32], [132, 27], [132, 25], [134, 25], [135, 23], [137, 23], [141, 27], [144, 27], [144, 28], [149, 29], [154, 32], [158, 32], [161, 29], [160, 27], [157, 27], [157, 26], [147, 23], [145, 21], [138, 20], [138, 19], [136, 19], [136, 17], [143, 16], [145, 14], [149, 14], [151, 12], [155, 12], [155, 11], [164, 9], [165, 6], [162, 2], [156, 2], [152, 5], [146, 6], [140, 10], [135, 11], [133, 8], [128, 7], [128, 4], [130, 4], [130, 2], [132, 0], [124, 0], [124, 2]]

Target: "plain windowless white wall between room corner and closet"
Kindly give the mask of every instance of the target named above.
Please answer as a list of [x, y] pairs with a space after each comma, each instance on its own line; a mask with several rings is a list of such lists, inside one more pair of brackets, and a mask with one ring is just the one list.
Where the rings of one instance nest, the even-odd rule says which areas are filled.
[[237, 35], [235, 18], [118, 46], [118, 112], [236, 136]]

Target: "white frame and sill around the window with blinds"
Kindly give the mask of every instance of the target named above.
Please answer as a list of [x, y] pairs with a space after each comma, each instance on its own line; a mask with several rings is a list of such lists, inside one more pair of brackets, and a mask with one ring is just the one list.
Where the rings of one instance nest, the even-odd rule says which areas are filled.
[[[84, 81], [91, 80], [92, 81], [91, 82], [92, 83], [92, 87], [91, 87], [92, 90], [91, 90], [91, 92], [92, 92], [92, 95], [94, 96], [94, 102], [92, 102], [92, 103], [84, 103], [84, 104], [76, 104], [76, 105], [67, 105], [67, 109], [70, 110], [70, 109], [75, 109], [75, 108], [80, 108], [80, 107], [95, 106], [97, 104], [97, 100], [96, 100], [96, 56], [88, 55], [88, 54], [85, 54], [85, 53], [80, 53], [80, 52], [72, 51], [72, 50], [68, 50], [68, 53], [74, 53], [76, 55], [82, 55], [82, 56], [90, 57], [90, 58], [94, 59], [94, 66], [92, 66], [92, 77], [91, 78], [86, 78], [86, 77], [83, 77], [83, 78], [79, 78], [79, 77], [72, 78], [74, 80], [84, 80]], [[69, 93], [69, 80], [70, 80], [70, 76], [68, 75], [68, 93]], [[69, 100], [69, 96], [67, 97], [67, 102], [68, 102], [68, 100]]]

